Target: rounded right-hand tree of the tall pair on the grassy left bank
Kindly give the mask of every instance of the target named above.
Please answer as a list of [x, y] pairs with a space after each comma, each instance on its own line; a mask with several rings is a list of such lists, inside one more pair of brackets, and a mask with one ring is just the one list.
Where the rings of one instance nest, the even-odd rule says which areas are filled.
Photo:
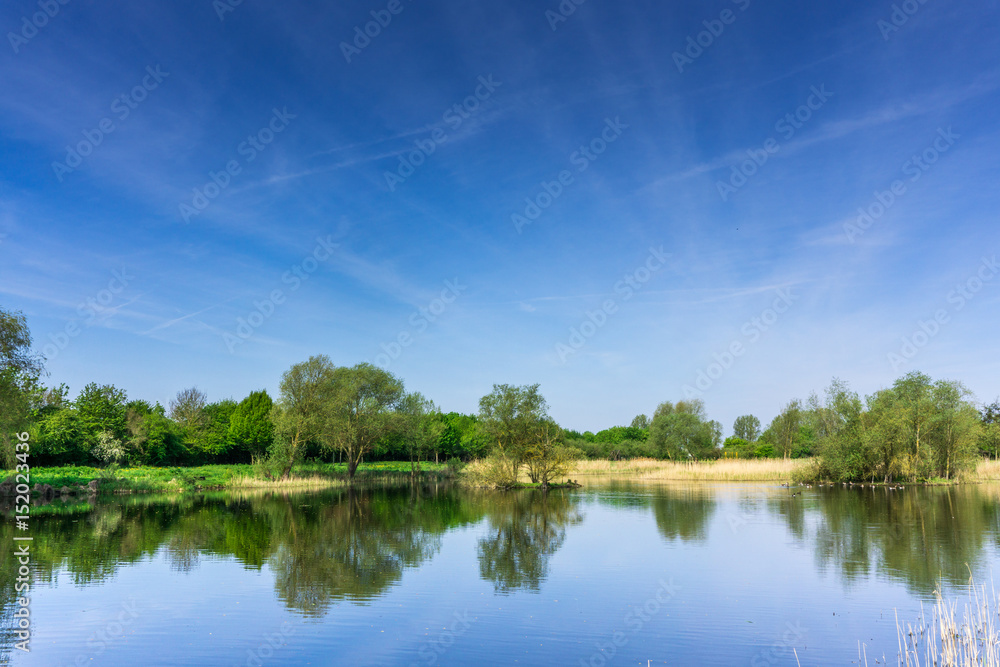
[[344, 455], [351, 479], [375, 443], [397, 426], [394, 413], [404, 395], [403, 382], [378, 366], [361, 363], [334, 371], [325, 444]]

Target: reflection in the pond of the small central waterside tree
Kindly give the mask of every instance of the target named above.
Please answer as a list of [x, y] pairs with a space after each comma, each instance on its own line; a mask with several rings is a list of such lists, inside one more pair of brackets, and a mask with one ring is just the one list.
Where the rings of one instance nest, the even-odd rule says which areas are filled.
[[549, 559], [582, 517], [573, 495], [525, 491], [489, 498], [489, 528], [479, 540], [479, 574], [499, 593], [539, 590]]

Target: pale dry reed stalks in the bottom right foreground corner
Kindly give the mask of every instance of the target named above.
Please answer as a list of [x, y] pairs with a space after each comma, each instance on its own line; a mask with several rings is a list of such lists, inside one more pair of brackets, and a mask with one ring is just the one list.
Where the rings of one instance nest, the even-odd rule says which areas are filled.
[[996, 589], [971, 584], [960, 619], [956, 619], [957, 607], [956, 601], [946, 601], [939, 591], [929, 624], [922, 613], [917, 625], [907, 624], [905, 630], [897, 619], [901, 667], [1000, 667]]

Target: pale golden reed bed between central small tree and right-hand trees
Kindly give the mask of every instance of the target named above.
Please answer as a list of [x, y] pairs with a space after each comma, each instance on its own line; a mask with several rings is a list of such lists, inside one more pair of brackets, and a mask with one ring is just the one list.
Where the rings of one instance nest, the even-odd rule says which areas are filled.
[[808, 459], [722, 459], [719, 461], [577, 461], [567, 475], [623, 476], [642, 481], [786, 482]]

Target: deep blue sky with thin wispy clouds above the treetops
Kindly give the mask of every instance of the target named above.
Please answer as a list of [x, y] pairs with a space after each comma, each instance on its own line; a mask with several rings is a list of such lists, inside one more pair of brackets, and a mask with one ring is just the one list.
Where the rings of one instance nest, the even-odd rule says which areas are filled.
[[580, 430], [990, 401], [1000, 9], [904, 5], [7, 2], [0, 305], [164, 404], [318, 353]]

